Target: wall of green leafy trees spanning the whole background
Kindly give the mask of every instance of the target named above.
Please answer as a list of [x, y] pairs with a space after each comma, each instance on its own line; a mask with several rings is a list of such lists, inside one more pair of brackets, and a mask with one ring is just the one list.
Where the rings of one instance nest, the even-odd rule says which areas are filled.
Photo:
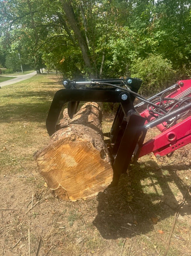
[[37, 70], [45, 64], [66, 78], [132, 72], [157, 90], [175, 73], [185, 77], [191, 69], [191, 4], [186, 0], [12, 0], [0, 1], [0, 10], [3, 66], [6, 55], [19, 52], [22, 64]]

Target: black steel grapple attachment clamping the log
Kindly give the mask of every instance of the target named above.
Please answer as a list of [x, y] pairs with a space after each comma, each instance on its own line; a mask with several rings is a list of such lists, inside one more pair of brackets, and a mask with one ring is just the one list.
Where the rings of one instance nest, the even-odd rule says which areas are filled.
[[[126, 172], [135, 147], [140, 139], [143, 140], [145, 118], [135, 110], [134, 94], [141, 85], [141, 80], [128, 77], [126, 79], [104, 79], [78, 82], [65, 80], [61, 89], [54, 95], [49, 109], [46, 127], [51, 136], [56, 131], [56, 124], [63, 106], [68, 103], [70, 118], [77, 112], [77, 107], [82, 102], [113, 102], [119, 103], [110, 133], [106, 143], [109, 148], [114, 176]], [[124, 91], [125, 90], [125, 91]]]

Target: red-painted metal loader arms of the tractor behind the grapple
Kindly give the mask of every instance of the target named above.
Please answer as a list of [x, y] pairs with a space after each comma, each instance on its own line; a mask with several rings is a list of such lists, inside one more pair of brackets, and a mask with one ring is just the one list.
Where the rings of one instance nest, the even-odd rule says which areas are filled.
[[[178, 81], [177, 84], [179, 85], [178, 89], [166, 97], [181, 99], [185, 96], [191, 96], [191, 80], [181, 80]], [[164, 101], [164, 103], [166, 102]], [[166, 109], [171, 109], [171, 105], [167, 105]], [[149, 113], [149, 109], [145, 109], [140, 115], [147, 118], [145, 124], [155, 119], [155, 117]], [[156, 127], [162, 133], [142, 145], [139, 157], [151, 152], [153, 152], [155, 156], [161, 157], [191, 143], [191, 116], [169, 128], [166, 122]]]

